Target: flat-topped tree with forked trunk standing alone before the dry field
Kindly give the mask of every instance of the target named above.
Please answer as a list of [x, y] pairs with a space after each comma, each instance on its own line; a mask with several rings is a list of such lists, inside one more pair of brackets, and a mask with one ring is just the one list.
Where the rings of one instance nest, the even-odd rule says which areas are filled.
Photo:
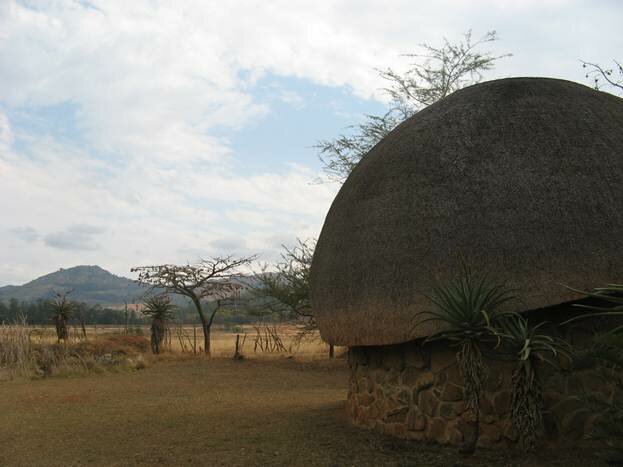
[[[236, 258], [234, 256], [213, 257], [196, 264], [161, 264], [132, 268], [138, 272], [137, 282], [160, 289], [165, 293], [190, 298], [195, 305], [203, 330], [204, 352], [210, 355], [210, 330], [214, 316], [221, 308], [222, 301], [235, 294], [240, 285], [234, 282], [240, 269], [249, 265], [254, 256]], [[216, 300], [215, 309], [207, 313], [203, 301]]]

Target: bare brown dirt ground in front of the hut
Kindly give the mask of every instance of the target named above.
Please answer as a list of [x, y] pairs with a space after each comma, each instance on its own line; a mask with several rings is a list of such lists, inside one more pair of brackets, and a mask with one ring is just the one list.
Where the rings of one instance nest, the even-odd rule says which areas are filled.
[[404, 442], [343, 414], [344, 359], [165, 357], [130, 373], [0, 383], [0, 465], [600, 465], [592, 453]]

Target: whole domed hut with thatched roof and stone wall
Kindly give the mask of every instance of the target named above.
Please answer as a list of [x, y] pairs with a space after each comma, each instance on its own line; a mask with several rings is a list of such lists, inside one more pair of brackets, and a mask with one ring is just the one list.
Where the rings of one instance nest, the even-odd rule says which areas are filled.
[[[461, 378], [447, 346], [422, 347], [435, 322], [423, 293], [450, 279], [459, 252], [518, 290], [516, 311], [548, 320], [623, 278], [623, 100], [544, 78], [457, 91], [399, 125], [353, 170], [327, 215], [312, 264], [323, 338], [348, 346], [348, 409], [358, 423], [460, 443]], [[513, 444], [509, 371], [494, 368], [481, 444]], [[544, 395], [551, 440], [579, 439], [595, 416], [575, 397], [581, 371]]]

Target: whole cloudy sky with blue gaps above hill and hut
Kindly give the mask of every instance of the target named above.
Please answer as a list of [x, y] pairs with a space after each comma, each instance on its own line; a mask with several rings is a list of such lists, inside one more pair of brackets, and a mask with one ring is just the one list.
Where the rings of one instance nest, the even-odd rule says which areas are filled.
[[313, 145], [383, 110], [375, 68], [498, 31], [487, 79], [586, 83], [623, 2], [0, 0], [0, 285], [318, 235]]

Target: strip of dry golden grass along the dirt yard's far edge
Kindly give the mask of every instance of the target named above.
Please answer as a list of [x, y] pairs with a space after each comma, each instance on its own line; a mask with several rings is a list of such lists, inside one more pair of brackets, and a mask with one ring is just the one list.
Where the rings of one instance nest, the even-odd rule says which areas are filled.
[[[271, 359], [297, 357], [306, 360], [325, 359], [328, 346], [317, 333], [303, 340], [293, 326], [278, 326], [279, 351], [273, 346], [256, 345], [257, 327], [246, 326], [237, 333], [215, 326], [212, 331], [212, 356], [231, 357], [239, 336], [244, 358]], [[137, 334], [130, 334], [136, 333]], [[0, 381], [13, 378], [83, 375], [91, 372], [118, 372], [142, 369], [151, 358], [149, 328], [89, 326], [86, 338], [79, 328], [69, 333], [68, 342], [58, 343], [52, 326], [26, 326], [23, 323], [0, 326]], [[185, 336], [185, 337], [182, 337]], [[266, 335], [262, 336], [264, 339]], [[160, 358], [201, 356], [203, 335], [198, 326], [175, 326], [165, 340]], [[345, 349], [342, 349], [345, 352]], [[337, 354], [339, 355], [338, 349]]]

